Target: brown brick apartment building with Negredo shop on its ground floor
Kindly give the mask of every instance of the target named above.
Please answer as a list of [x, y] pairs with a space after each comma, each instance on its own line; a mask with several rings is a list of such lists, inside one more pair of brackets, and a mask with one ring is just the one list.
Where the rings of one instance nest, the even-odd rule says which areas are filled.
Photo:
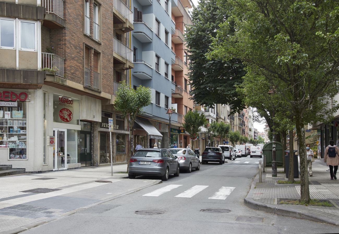
[[37, 172], [126, 162], [113, 108], [130, 82], [133, 13], [122, 0], [0, 1], [0, 165]]

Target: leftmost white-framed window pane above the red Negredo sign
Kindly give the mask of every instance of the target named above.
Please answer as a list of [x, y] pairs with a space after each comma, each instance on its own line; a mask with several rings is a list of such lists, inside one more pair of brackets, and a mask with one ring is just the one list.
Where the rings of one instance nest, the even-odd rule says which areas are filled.
[[0, 19], [0, 47], [15, 47], [14, 27], [14, 19]]

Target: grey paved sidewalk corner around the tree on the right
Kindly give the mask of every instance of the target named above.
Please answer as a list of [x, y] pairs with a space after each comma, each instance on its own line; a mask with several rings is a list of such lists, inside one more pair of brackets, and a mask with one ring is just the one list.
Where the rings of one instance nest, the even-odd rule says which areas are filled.
[[[333, 207], [279, 204], [286, 198], [300, 199], [300, 184], [277, 184], [278, 180], [287, 181], [287, 178], [285, 173], [282, 173], [283, 168], [278, 168], [278, 177], [272, 178], [272, 167], [265, 167], [266, 173], [262, 173], [261, 183], [259, 173], [257, 174], [244, 203], [248, 207], [268, 213], [339, 226], [339, 177], [338, 180], [330, 180], [330, 172], [326, 171], [327, 169], [323, 159], [316, 159], [313, 163], [313, 176], [308, 177], [310, 196], [327, 200]], [[300, 181], [300, 175], [295, 180]]]

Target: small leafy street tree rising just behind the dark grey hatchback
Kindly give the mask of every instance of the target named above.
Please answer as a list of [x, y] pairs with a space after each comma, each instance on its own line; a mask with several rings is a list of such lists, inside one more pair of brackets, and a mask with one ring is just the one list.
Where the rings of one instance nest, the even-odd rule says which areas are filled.
[[[152, 94], [151, 89], [138, 86], [136, 89], [131, 89], [126, 84], [121, 83], [121, 86], [118, 89], [117, 97], [114, 102], [114, 108], [117, 111], [122, 112], [124, 118], [128, 122], [129, 126], [129, 145], [132, 144], [133, 139], [133, 124], [137, 115], [142, 113], [142, 108], [148, 106], [152, 102]], [[132, 156], [131, 154], [127, 154], [127, 162]], [[127, 172], [128, 172], [128, 164], [127, 164]]]

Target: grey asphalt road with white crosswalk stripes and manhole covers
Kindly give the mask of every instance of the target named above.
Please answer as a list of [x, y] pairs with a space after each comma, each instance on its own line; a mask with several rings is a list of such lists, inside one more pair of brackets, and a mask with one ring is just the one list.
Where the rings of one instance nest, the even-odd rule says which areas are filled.
[[[201, 165], [200, 171], [171, 176], [161, 184], [25, 233], [338, 233], [336, 226], [273, 215], [244, 206], [243, 199], [257, 173], [258, 160], [244, 157], [226, 160], [223, 165]], [[204, 209], [230, 212], [206, 213], [201, 211]], [[135, 214], [144, 210], [162, 211], [163, 214]]]

